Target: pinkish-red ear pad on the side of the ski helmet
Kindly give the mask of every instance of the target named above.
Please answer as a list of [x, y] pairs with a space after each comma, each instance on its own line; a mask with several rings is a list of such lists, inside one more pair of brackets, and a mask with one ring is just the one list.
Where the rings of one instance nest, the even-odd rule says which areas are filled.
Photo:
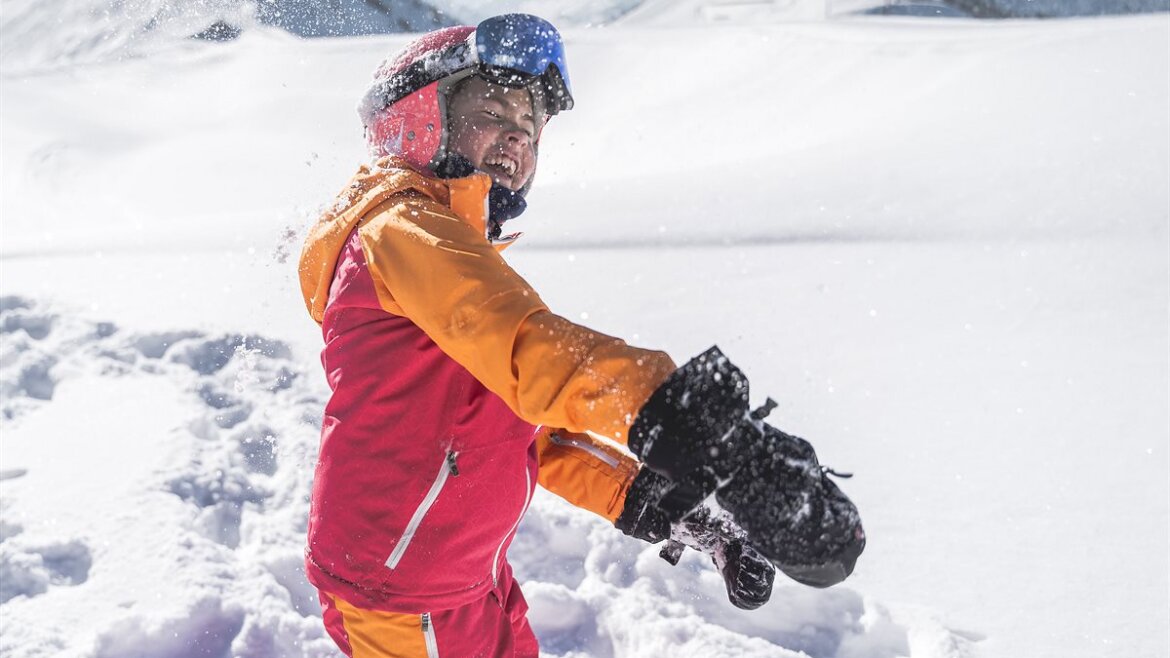
[[399, 156], [414, 167], [431, 169], [446, 142], [440, 82], [378, 110], [365, 131], [374, 157]]

